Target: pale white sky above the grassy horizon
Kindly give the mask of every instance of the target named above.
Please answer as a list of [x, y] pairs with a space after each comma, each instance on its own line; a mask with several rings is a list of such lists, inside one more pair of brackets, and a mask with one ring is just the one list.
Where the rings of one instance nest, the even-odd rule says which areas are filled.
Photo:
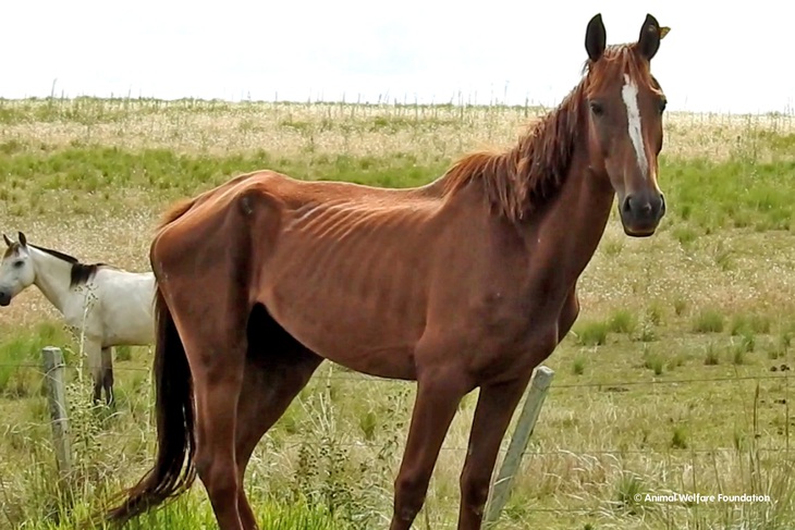
[[[210, 7], [203, 7], [210, 5]], [[473, 5], [472, 8], [467, 5]], [[732, 8], [727, 5], [736, 5]], [[578, 82], [585, 28], [634, 41], [669, 109], [795, 112], [795, 3], [783, 0], [25, 0], [7, 2], [0, 97], [555, 104]]]

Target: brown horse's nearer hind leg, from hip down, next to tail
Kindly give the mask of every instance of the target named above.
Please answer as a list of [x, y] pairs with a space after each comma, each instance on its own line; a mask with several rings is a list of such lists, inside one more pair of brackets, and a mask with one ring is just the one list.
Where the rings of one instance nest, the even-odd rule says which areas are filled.
[[[219, 530], [244, 530], [238, 500], [245, 500], [245, 495], [235, 445], [236, 429], [241, 426], [237, 404], [249, 346], [247, 326], [254, 310], [247, 291], [254, 266], [254, 239], [249, 230], [244, 229], [250, 225], [249, 217], [259, 210], [252, 200], [252, 196], [245, 195], [240, 209], [220, 210], [207, 223], [199, 223], [191, 238], [201, 241], [201, 245], [180, 248], [186, 242], [172, 241], [166, 246], [166, 232], [150, 251], [156, 274], [164, 280], [158, 284], [159, 289], [171, 309], [193, 375], [195, 468], [207, 490]], [[241, 230], [228, 233], [230, 226]], [[257, 245], [262, 244], [264, 239], [258, 237]], [[223, 249], [229, 250], [225, 259], [219, 257]], [[189, 264], [180, 262], [183, 251], [191, 251]], [[215, 288], [197, 293], [197, 285]]]

